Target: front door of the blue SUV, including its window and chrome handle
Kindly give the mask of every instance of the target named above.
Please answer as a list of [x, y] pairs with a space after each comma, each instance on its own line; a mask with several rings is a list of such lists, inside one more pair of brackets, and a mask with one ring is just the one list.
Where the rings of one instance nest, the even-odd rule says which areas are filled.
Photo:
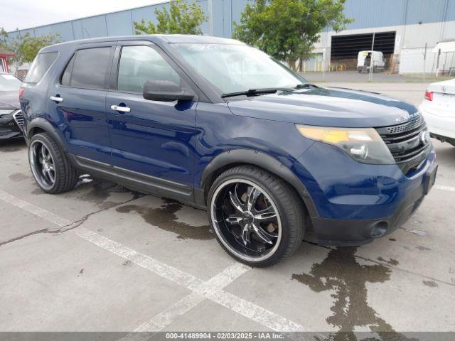
[[[120, 180], [135, 180], [152, 193], [191, 200], [197, 102], [144, 99], [147, 80], [188, 87], [178, 67], [154, 44], [119, 42], [114, 90], [106, 112], [112, 163]], [[114, 60], [115, 64], [115, 60]]]

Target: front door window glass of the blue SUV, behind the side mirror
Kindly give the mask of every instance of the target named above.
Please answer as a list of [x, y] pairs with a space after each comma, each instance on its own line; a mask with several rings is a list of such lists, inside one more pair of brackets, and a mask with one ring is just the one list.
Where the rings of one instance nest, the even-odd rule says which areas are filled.
[[180, 84], [178, 73], [154, 48], [124, 46], [120, 55], [117, 90], [141, 93], [147, 80], [171, 80]]

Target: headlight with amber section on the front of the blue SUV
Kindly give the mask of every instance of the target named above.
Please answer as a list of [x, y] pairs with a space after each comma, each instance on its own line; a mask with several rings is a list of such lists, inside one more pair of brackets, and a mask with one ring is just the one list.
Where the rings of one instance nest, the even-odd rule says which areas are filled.
[[303, 136], [343, 149], [355, 161], [392, 164], [395, 160], [389, 148], [373, 128], [331, 128], [296, 124]]

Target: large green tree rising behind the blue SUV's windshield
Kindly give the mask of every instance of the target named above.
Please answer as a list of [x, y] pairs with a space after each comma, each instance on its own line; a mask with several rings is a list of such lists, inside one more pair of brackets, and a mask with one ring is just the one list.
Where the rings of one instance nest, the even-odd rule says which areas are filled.
[[346, 0], [256, 0], [234, 23], [233, 37], [295, 67], [307, 59], [326, 27], [341, 31], [353, 21], [343, 14]]

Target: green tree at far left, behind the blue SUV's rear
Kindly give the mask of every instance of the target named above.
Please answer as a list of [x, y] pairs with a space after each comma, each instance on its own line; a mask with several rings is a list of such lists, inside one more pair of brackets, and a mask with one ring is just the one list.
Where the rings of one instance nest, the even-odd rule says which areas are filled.
[[14, 56], [9, 57], [8, 61], [16, 69], [25, 63], [33, 62], [41, 48], [55, 43], [60, 43], [60, 36], [48, 34], [33, 37], [30, 33], [26, 33], [23, 36], [17, 34], [10, 37], [4, 28], [0, 28], [0, 48], [14, 53]]

